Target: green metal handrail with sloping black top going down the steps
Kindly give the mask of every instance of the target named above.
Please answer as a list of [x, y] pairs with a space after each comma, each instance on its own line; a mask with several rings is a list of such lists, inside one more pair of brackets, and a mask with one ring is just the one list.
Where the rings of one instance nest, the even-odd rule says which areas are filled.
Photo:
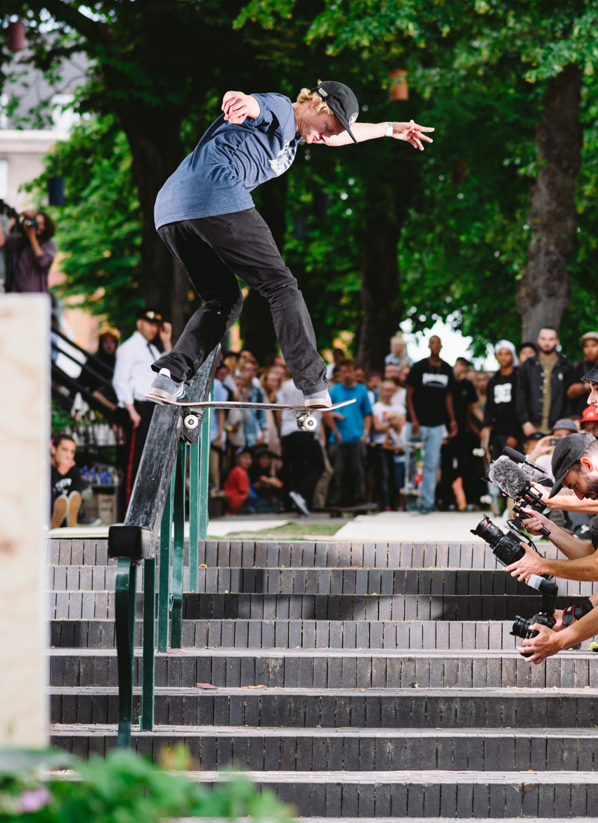
[[[192, 400], [213, 397], [211, 384], [219, 360], [220, 346], [217, 346], [192, 380], [189, 388]], [[118, 558], [115, 590], [118, 748], [131, 746], [137, 566], [141, 563], [143, 620], [139, 728], [148, 731], [154, 728], [156, 645], [159, 652], [181, 648], [188, 457], [189, 588], [197, 591], [198, 542], [206, 539], [209, 518], [211, 414], [196, 410], [201, 420], [198, 430], [184, 427], [184, 414], [183, 407], [155, 408], [125, 522], [109, 529], [109, 556]]]

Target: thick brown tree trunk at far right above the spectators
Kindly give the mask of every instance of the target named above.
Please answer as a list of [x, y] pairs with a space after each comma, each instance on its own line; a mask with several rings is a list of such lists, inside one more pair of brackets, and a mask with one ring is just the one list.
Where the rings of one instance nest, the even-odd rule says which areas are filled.
[[582, 162], [581, 84], [582, 70], [573, 64], [549, 82], [544, 118], [535, 133], [538, 182], [530, 191], [528, 214], [533, 236], [517, 289], [523, 340], [535, 340], [544, 326], [559, 329], [571, 300], [567, 258], [577, 223], [575, 178]]

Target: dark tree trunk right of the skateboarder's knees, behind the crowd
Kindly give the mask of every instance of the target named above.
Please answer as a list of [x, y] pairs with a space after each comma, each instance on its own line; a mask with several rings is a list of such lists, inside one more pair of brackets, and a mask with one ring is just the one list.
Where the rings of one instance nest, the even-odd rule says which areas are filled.
[[366, 228], [361, 287], [364, 316], [357, 360], [367, 372], [383, 370], [384, 357], [390, 351], [390, 339], [401, 321], [396, 253], [401, 225], [386, 213], [378, 212]]

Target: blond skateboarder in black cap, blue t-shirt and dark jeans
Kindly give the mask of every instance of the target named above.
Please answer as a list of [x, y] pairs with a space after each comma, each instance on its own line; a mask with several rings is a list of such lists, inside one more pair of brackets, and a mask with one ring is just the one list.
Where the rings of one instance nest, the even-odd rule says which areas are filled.
[[[328, 407], [326, 365], [297, 281], [251, 191], [285, 172], [299, 143], [344, 146], [395, 137], [423, 150], [433, 128], [410, 123], [355, 123], [354, 93], [336, 81], [302, 89], [296, 103], [279, 94], [227, 91], [223, 114], [158, 193], [155, 227], [183, 266], [203, 305], [174, 349], [155, 361], [151, 398], [184, 400], [192, 377], [239, 317], [239, 276], [270, 303], [280, 351], [307, 407]], [[210, 247], [209, 249], [206, 247]], [[211, 251], [210, 251], [211, 249]]]

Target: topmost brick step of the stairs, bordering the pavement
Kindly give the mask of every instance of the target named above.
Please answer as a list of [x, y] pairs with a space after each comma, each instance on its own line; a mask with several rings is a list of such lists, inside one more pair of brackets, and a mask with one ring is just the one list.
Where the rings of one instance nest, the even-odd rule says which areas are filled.
[[[472, 528], [476, 516], [472, 518]], [[557, 550], [542, 543], [540, 551], [555, 559]], [[495, 569], [497, 560], [484, 543], [362, 543], [208, 540], [199, 542], [198, 563], [234, 568]], [[49, 540], [53, 565], [108, 565], [107, 540]], [[110, 565], [114, 564], [110, 561]], [[185, 549], [188, 565], [188, 546]]]

